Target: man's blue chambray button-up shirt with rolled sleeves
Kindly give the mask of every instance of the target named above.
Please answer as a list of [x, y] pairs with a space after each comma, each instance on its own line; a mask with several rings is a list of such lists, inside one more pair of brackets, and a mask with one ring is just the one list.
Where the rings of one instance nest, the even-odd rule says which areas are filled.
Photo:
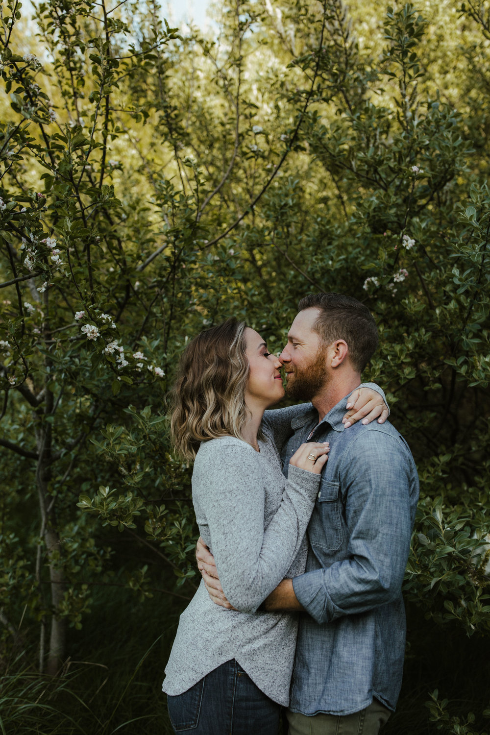
[[405, 651], [401, 584], [419, 497], [406, 441], [386, 422], [345, 430], [346, 400], [317, 425], [308, 404], [292, 420], [284, 467], [302, 442], [330, 442], [308, 527], [306, 573], [289, 709], [347, 715], [377, 698], [393, 710]]

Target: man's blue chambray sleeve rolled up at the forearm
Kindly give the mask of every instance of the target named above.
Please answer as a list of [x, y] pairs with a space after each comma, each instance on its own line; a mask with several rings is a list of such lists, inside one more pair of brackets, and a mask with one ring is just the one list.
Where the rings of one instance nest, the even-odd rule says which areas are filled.
[[417, 503], [417, 471], [402, 440], [381, 431], [356, 437], [345, 456], [345, 559], [293, 579], [317, 623], [367, 612], [401, 591]]

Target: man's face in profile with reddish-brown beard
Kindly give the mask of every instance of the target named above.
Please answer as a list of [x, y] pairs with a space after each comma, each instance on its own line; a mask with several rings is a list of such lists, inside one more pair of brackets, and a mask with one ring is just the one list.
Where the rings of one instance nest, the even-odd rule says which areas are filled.
[[297, 401], [311, 401], [328, 380], [325, 351], [312, 327], [320, 309], [299, 312], [287, 334], [287, 345], [279, 355], [286, 373], [286, 392]]

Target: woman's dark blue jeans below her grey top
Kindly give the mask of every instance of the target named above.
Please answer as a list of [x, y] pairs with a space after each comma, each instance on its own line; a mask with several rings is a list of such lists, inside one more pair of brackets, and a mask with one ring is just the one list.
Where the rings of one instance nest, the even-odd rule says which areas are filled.
[[278, 735], [281, 706], [264, 695], [234, 659], [184, 694], [168, 696], [167, 706], [176, 733]]

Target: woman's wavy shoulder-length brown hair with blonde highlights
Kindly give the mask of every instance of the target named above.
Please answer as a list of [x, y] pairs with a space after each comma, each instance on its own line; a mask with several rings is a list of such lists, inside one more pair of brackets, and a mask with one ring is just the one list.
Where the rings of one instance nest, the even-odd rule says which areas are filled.
[[181, 355], [171, 393], [170, 435], [181, 459], [192, 462], [200, 442], [242, 439], [250, 368], [245, 322], [234, 318], [201, 331]]

